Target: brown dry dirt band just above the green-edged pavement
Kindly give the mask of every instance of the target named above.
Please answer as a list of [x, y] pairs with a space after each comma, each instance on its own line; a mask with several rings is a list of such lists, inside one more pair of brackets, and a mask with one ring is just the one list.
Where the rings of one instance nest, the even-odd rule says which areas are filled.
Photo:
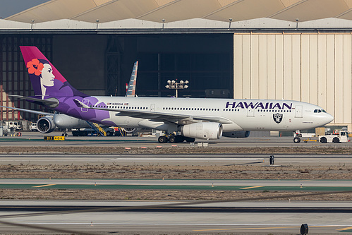
[[352, 167], [220, 165], [0, 165], [0, 179], [352, 179]]

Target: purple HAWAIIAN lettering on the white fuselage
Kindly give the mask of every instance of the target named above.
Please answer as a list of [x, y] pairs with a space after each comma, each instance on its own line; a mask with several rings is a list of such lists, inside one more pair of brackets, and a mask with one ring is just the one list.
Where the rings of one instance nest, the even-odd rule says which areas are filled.
[[225, 109], [292, 109], [292, 103], [273, 103], [273, 102], [226, 102]]

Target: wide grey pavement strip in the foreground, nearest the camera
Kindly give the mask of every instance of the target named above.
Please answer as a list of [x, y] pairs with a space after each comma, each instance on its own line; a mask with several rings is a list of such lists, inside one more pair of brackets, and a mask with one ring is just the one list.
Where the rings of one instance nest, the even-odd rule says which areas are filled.
[[[266, 201], [189, 207], [180, 203], [189, 202], [5, 200], [0, 202], [0, 224], [35, 224], [94, 234], [299, 234], [303, 223], [308, 224], [309, 234], [352, 231], [351, 203]], [[4, 207], [13, 209], [4, 212]], [[37, 215], [29, 215], [33, 213]], [[0, 229], [32, 231], [6, 224], [1, 224]]]

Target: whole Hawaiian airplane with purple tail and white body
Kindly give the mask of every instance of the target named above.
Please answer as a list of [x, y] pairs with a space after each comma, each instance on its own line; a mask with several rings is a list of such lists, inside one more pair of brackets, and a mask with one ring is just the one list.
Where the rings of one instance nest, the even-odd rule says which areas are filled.
[[88, 96], [73, 88], [37, 47], [20, 49], [35, 96], [16, 97], [106, 126], [165, 131], [159, 143], [238, 137], [249, 131], [297, 131], [334, 119], [317, 105], [291, 100]]

